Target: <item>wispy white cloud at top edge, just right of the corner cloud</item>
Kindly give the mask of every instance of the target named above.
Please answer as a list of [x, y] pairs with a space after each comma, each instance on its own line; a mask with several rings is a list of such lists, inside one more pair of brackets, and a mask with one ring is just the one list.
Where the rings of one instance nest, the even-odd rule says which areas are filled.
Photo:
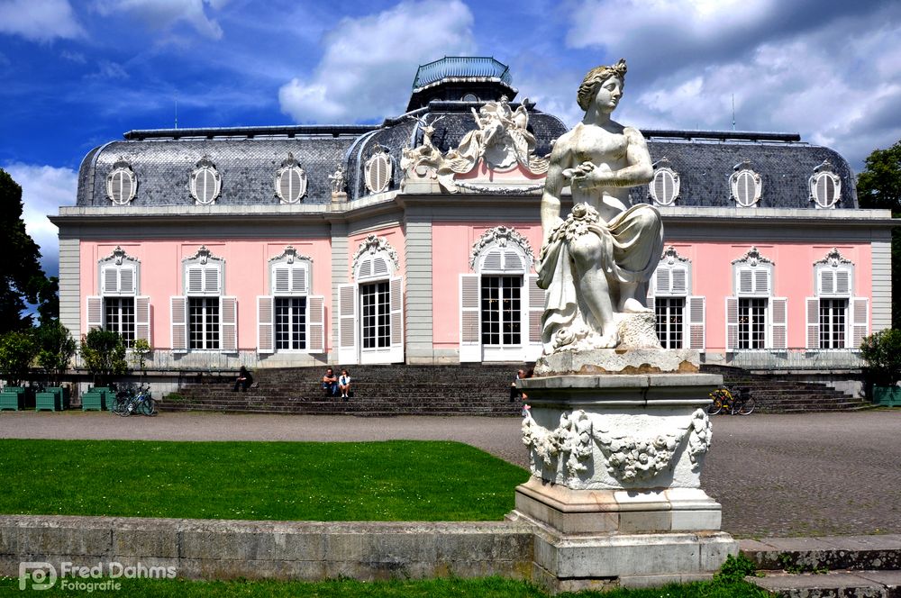
[[133, 14], [151, 29], [168, 29], [179, 22], [194, 27], [196, 32], [214, 40], [223, 36], [222, 27], [206, 15], [208, 5], [220, 10], [228, 0], [96, 0], [96, 11], [103, 15]]

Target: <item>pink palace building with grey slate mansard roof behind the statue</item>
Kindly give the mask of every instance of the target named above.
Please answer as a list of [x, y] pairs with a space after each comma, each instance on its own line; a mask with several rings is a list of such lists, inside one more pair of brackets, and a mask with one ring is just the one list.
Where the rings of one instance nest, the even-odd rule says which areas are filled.
[[[567, 127], [516, 95], [495, 59], [445, 58], [378, 125], [92, 149], [51, 218], [62, 322], [148, 340], [160, 369], [532, 361], [543, 173]], [[860, 340], [890, 326], [894, 222], [858, 207], [845, 159], [796, 134], [642, 132], [655, 174], [631, 199], [665, 226], [647, 292], [663, 346], [860, 367]]]

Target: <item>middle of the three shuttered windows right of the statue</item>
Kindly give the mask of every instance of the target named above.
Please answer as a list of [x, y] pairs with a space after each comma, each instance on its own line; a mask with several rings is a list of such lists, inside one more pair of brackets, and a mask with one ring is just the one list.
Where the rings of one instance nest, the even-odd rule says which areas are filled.
[[733, 260], [733, 296], [726, 297], [726, 350], [787, 349], [788, 300], [772, 296], [775, 266], [756, 247]]

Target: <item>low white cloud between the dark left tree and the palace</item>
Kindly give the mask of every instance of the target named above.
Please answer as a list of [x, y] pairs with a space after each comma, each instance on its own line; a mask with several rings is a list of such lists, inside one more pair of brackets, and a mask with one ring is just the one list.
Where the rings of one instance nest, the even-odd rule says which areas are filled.
[[48, 214], [59, 211], [60, 205], [74, 205], [78, 188], [78, 173], [71, 168], [54, 168], [13, 162], [4, 170], [22, 186], [25, 230], [41, 247], [41, 267], [47, 276], [59, 271], [59, 230]]

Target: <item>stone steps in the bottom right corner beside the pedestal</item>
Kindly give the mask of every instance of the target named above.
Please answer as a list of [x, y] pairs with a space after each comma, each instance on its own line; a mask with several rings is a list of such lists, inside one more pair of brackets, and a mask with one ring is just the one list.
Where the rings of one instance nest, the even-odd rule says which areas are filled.
[[742, 540], [762, 577], [748, 580], [782, 598], [901, 598], [901, 536]]

